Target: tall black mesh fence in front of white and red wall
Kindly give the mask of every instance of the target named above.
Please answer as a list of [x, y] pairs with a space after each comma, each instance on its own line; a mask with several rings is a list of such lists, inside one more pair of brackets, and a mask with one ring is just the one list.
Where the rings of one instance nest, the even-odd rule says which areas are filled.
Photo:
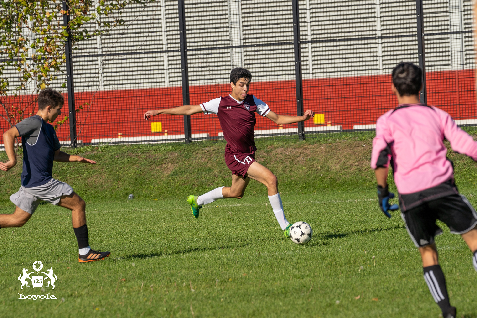
[[[73, 109], [82, 109], [75, 135], [70, 118], [58, 136], [83, 145], [223, 139], [215, 115], [142, 116], [228, 95], [234, 67], [249, 69], [249, 94], [272, 111], [316, 113], [305, 123], [283, 126], [256, 116], [256, 138], [373, 130], [376, 119], [396, 106], [390, 74], [401, 61], [425, 68], [422, 101], [449, 112], [461, 126], [477, 126], [472, 9], [471, 0], [131, 5], [124, 25], [73, 48], [68, 88]], [[68, 97], [62, 83], [59, 76], [51, 87]]]

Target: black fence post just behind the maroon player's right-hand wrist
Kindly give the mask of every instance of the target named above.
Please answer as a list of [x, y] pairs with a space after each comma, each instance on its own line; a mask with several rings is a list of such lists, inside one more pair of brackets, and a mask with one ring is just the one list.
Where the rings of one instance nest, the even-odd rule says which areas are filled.
[[[300, 12], [299, 0], [291, 0], [293, 14], [293, 49], [295, 51], [295, 87], [297, 101], [297, 116], [303, 116], [303, 82], [301, 79], [301, 44], [300, 44]], [[298, 123], [298, 138], [305, 139], [305, 123]]]

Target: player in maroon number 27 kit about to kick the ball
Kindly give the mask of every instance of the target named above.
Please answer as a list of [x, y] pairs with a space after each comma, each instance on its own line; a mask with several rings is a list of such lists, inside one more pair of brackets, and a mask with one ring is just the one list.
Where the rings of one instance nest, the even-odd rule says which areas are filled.
[[217, 114], [220, 127], [227, 140], [225, 147], [225, 162], [232, 171], [232, 186], [219, 187], [203, 195], [189, 195], [187, 202], [192, 213], [199, 217], [199, 209], [203, 204], [218, 199], [241, 199], [250, 179], [257, 180], [267, 186], [270, 205], [286, 237], [290, 237], [290, 223], [288, 223], [280, 193], [278, 192], [277, 177], [266, 167], [255, 161], [254, 127], [257, 120], [255, 113], [267, 117], [276, 124], [293, 124], [305, 121], [314, 116], [314, 112], [307, 110], [303, 116], [285, 116], [272, 112], [267, 104], [254, 95], [248, 95], [252, 74], [241, 67], [234, 68], [230, 73], [230, 87], [232, 93], [226, 97], [218, 97], [200, 105], [184, 105], [175, 108], [149, 110], [144, 118], [159, 114], [205, 115]]

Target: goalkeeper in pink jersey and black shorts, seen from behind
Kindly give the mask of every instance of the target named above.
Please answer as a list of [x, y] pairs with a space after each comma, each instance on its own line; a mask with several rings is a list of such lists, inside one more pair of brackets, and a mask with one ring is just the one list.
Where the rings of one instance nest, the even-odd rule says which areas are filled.
[[456, 317], [449, 303], [446, 279], [438, 263], [434, 237], [442, 233], [436, 220], [460, 234], [473, 252], [477, 271], [477, 213], [459, 194], [454, 167], [446, 158], [444, 139], [452, 149], [477, 160], [477, 142], [457, 127], [445, 111], [419, 102], [422, 70], [412, 63], [400, 63], [393, 70], [393, 93], [397, 108], [379, 117], [373, 139], [371, 167], [378, 183], [379, 207], [387, 217], [397, 210], [388, 200], [389, 165], [399, 193], [401, 216], [407, 232], [421, 253], [424, 279], [444, 318]]

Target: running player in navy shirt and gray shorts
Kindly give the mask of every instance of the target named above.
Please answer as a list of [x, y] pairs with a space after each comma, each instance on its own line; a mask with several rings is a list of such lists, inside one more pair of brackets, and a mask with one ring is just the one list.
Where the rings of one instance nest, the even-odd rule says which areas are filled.
[[65, 207], [72, 211], [73, 230], [79, 248], [78, 261], [81, 263], [97, 261], [109, 256], [110, 253], [90, 248], [86, 205], [83, 199], [70, 185], [52, 177], [53, 161], [96, 163], [60, 150], [60, 141], [48, 121], [53, 122], [61, 114], [63, 103], [64, 99], [60, 93], [52, 89], [41, 91], [38, 95], [38, 113], [22, 120], [3, 134], [9, 160], [5, 163], [0, 162], [0, 170], [8, 171], [16, 165], [13, 145], [15, 138], [21, 137], [23, 171], [20, 190], [10, 196], [10, 201], [16, 205], [15, 212], [0, 214], [0, 228], [23, 226], [41, 201]]

